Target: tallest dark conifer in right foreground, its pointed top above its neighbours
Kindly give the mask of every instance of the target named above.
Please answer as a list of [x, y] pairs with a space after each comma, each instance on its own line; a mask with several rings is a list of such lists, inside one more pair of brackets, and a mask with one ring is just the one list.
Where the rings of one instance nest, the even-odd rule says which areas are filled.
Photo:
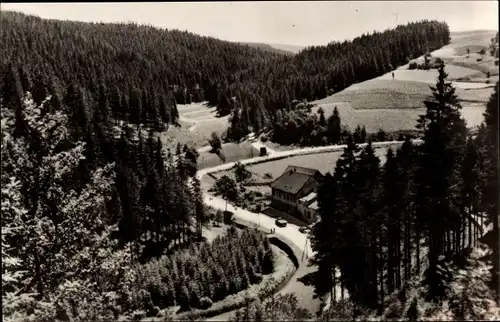
[[418, 127], [424, 129], [424, 143], [421, 146], [417, 194], [418, 215], [425, 223], [429, 242], [429, 268], [426, 282], [429, 297], [439, 299], [444, 293], [440, 287], [438, 258], [444, 255], [443, 238], [452, 229], [457, 209], [456, 169], [459, 168], [464, 147], [466, 128], [460, 117], [460, 104], [455, 89], [446, 82], [444, 65], [438, 68], [438, 82], [433, 90], [433, 98], [425, 101], [427, 112], [421, 116]]

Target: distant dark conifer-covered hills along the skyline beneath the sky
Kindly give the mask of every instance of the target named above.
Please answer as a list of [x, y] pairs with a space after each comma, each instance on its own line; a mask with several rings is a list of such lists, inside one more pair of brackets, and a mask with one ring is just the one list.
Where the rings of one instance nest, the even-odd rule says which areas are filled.
[[[1, 23], [4, 75], [12, 65], [35, 87], [78, 84], [95, 100], [107, 96], [115, 118], [157, 127], [175, 122], [176, 103], [206, 100], [221, 115], [232, 113], [232, 139], [287, 123], [283, 114], [293, 100], [323, 98], [449, 42], [445, 23], [422, 21], [287, 56], [134, 24], [13, 12], [4, 12]], [[292, 119], [287, 126], [306, 123]]]

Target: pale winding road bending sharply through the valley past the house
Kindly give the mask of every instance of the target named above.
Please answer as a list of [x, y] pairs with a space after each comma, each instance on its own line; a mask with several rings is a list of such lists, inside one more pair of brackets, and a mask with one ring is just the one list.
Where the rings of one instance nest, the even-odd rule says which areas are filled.
[[[382, 148], [382, 147], [389, 147], [389, 146], [398, 146], [401, 145], [403, 142], [402, 141], [388, 141], [388, 142], [375, 142], [373, 143], [374, 148]], [[421, 144], [422, 140], [413, 140], [414, 144]], [[262, 143], [260, 142], [253, 142], [252, 145], [254, 147], [259, 147], [263, 146]], [[366, 144], [359, 144], [359, 147], [364, 147]], [[323, 146], [323, 147], [311, 147], [311, 148], [301, 148], [301, 149], [294, 149], [290, 151], [273, 151], [269, 148], [267, 148], [268, 155], [263, 156], [263, 157], [255, 157], [251, 159], [245, 159], [245, 160], [240, 160], [240, 162], [244, 165], [250, 165], [250, 164], [255, 164], [255, 163], [262, 163], [262, 162], [268, 162], [272, 160], [277, 160], [277, 159], [282, 159], [282, 158], [287, 158], [291, 156], [297, 156], [297, 155], [306, 155], [306, 154], [315, 154], [315, 153], [324, 153], [324, 152], [335, 152], [335, 151], [342, 151], [346, 145], [331, 145], [331, 146]], [[200, 169], [196, 173], [196, 177], [200, 182], [202, 181], [203, 177], [209, 173], [214, 173], [214, 172], [219, 172], [219, 171], [224, 171], [231, 169], [234, 166], [235, 162], [229, 162], [225, 164], [221, 164], [216, 167], [212, 168], [206, 168], [206, 169]], [[225, 210], [226, 209], [226, 201], [220, 197], [210, 195], [208, 191], [203, 191], [203, 200], [206, 205], [213, 207], [214, 209], [218, 210]], [[298, 247], [299, 249], [303, 250], [303, 258], [299, 259], [299, 269], [302, 268], [308, 268], [307, 267], [307, 258], [310, 258], [314, 255], [314, 252], [312, 251], [311, 244], [309, 242], [309, 238], [306, 234], [303, 234], [299, 232], [299, 227], [288, 223], [286, 227], [279, 228], [275, 225], [275, 219], [267, 216], [262, 213], [254, 213], [250, 212], [248, 210], [245, 210], [240, 207], [236, 207], [231, 204], [227, 204], [227, 210], [231, 211], [234, 213], [234, 218], [235, 219], [241, 219], [243, 221], [251, 222], [254, 223], [257, 226], [260, 226], [262, 228], [266, 229], [271, 229], [274, 228], [276, 229], [275, 234], [284, 240], [288, 240], [294, 244], [295, 247]], [[296, 271], [299, 272], [299, 269]], [[304, 274], [302, 274], [304, 275]], [[301, 276], [294, 276], [293, 278], [297, 278]], [[288, 286], [288, 285], [287, 285]], [[288, 288], [285, 286], [283, 288], [283, 291], [286, 291]], [[337, 291], [337, 294], [340, 294], [340, 290]], [[227, 312], [224, 314], [221, 314], [219, 316], [213, 317], [210, 320], [226, 320], [231, 317], [231, 312]], [[313, 312], [314, 313], [314, 312]]]

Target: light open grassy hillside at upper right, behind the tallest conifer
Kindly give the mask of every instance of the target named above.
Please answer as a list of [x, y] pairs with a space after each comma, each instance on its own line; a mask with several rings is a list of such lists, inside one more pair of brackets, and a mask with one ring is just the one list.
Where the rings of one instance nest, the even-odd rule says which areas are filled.
[[[485, 55], [482, 62], [476, 59], [480, 56], [474, 54], [476, 44], [478, 48], [487, 48], [491, 37], [496, 32], [479, 31], [456, 33], [452, 35], [451, 44], [435, 52], [433, 56], [442, 57], [446, 62], [446, 72], [450, 80], [455, 82], [456, 93], [462, 100], [462, 115], [470, 127], [479, 125], [483, 121], [484, 105], [489, 100], [498, 76], [486, 78], [486, 71], [491, 75], [498, 75], [498, 66], [494, 66], [494, 58]], [[463, 54], [462, 47], [470, 47], [471, 54], [468, 58], [457, 56]], [[477, 48], [476, 48], [477, 49]], [[345, 90], [317, 100], [318, 104], [329, 116], [335, 106], [338, 107], [343, 124], [351, 129], [357, 125], [366, 126], [367, 131], [374, 132], [378, 129], [384, 131], [397, 131], [414, 129], [418, 116], [425, 111], [423, 100], [430, 94], [429, 85], [435, 84], [436, 70], [408, 70], [402, 66], [394, 71], [376, 79], [353, 84]], [[463, 83], [472, 81], [474, 84]], [[489, 81], [489, 85], [485, 84]], [[482, 84], [481, 84], [482, 82]], [[488, 88], [480, 88], [490, 86]], [[477, 88], [473, 88], [477, 87]], [[317, 111], [319, 107], [313, 109]]]

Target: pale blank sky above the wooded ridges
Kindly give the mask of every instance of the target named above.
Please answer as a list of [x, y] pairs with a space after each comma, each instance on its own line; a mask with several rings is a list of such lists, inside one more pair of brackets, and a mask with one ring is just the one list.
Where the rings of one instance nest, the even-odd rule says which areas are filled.
[[2, 3], [42, 18], [151, 24], [228, 41], [325, 45], [421, 19], [498, 30], [498, 1]]

